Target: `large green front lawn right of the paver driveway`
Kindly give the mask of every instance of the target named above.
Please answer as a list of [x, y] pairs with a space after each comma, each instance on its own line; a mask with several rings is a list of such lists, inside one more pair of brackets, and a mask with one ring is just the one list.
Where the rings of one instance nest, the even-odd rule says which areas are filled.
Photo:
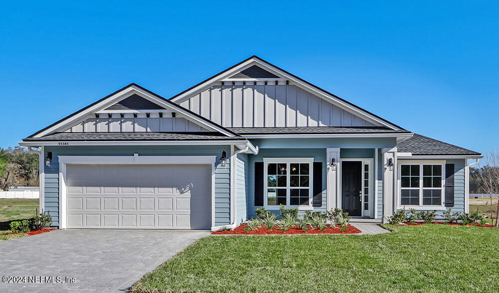
[[387, 226], [374, 236], [211, 236], [132, 292], [498, 292], [499, 229]]

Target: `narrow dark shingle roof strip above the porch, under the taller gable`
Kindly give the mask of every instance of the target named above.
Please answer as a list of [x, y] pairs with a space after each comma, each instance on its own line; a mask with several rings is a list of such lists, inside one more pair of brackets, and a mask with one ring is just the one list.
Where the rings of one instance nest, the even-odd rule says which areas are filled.
[[229, 129], [239, 135], [411, 133], [407, 130], [393, 130], [386, 127], [233, 127]]

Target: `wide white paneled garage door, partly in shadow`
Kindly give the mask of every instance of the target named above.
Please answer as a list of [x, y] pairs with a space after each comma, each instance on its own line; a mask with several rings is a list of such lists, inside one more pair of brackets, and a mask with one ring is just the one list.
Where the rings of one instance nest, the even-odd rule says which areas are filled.
[[211, 165], [68, 164], [67, 228], [210, 229]]

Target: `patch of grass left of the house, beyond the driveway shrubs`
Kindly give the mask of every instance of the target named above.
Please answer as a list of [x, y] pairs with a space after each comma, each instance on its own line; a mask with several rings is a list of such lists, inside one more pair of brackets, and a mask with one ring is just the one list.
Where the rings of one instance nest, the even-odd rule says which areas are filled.
[[10, 234], [9, 223], [31, 218], [37, 209], [38, 199], [0, 199], [0, 241], [24, 236], [23, 233]]

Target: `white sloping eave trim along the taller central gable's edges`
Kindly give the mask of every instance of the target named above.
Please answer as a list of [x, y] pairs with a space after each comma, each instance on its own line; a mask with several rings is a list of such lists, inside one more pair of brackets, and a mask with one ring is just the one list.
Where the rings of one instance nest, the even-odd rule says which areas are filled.
[[[305, 81], [299, 77], [297, 77], [296, 75], [294, 74], [291, 74], [263, 59], [261, 59], [260, 57], [258, 56], [251, 56], [250, 58], [246, 59], [246, 60], [243, 60], [241, 61], [240, 63], [198, 83], [197, 85], [173, 96], [172, 98], [170, 98], [170, 100], [172, 102], [175, 102], [175, 103], [182, 103], [183, 101], [187, 100], [187, 99], [190, 99], [191, 97], [193, 97], [194, 95], [196, 95], [197, 93], [209, 88], [211, 86], [212, 83], [214, 82], [224, 82], [224, 81], [228, 81], [228, 82], [233, 82], [233, 81], [237, 81], [237, 79], [234, 79], [234, 78], [231, 78], [229, 79], [229, 77], [231, 77], [232, 75], [234, 75], [235, 73], [239, 72], [239, 71], [242, 71], [242, 70], [245, 70], [247, 68], [249, 68], [250, 66], [253, 66], [253, 65], [257, 65], [257, 66], [260, 66], [262, 68], [264, 68], [265, 70], [275, 74], [275, 75], [278, 75], [280, 76], [281, 78], [280, 79], [272, 79], [272, 80], [282, 80], [282, 81], [290, 81], [289, 84], [293, 84], [293, 85], [296, 85], [297, 87], [300, 87], [302, 88], [303, 90], [305, 91], [308, 91], [310, 93], [313, 93], [314, 95], [316, 95], [317, 97], [319, 98], [322, 98], [328, 102], [332, 102], [334, 105], [338, 106], [339, 108], [345, 110], [345, 111], [348, 111], [356, 116], [359, 116], [363, 119], [365, 119], [366, 121], [370, 122], [370, 123], [373, 123], [375, 125], [378, 125], [378, 126], [384, 126], [384, 127], [387, 127], [387, 128], [390, 128], [390, 129], [393, 129], [393, 130], [404, 130], [402, 127], [396, 125], [396, 124], [393, 124], [365, 109], [362, 109], [326, 90], [323, 90], [321, 88], [319, 88], [318, 86], [316, 85], [313, 85], [311, 84], [310, 82], [308, 81]], [[241, 79], [243, 80], [243, 79]], [[248, 80], [253, 80], [253, 79], [244, 79], [246, 81]], [[259, 81], [264, 81], [265, 79], [254, 79], [255, 81], [256, 80], [259, 80]]]

